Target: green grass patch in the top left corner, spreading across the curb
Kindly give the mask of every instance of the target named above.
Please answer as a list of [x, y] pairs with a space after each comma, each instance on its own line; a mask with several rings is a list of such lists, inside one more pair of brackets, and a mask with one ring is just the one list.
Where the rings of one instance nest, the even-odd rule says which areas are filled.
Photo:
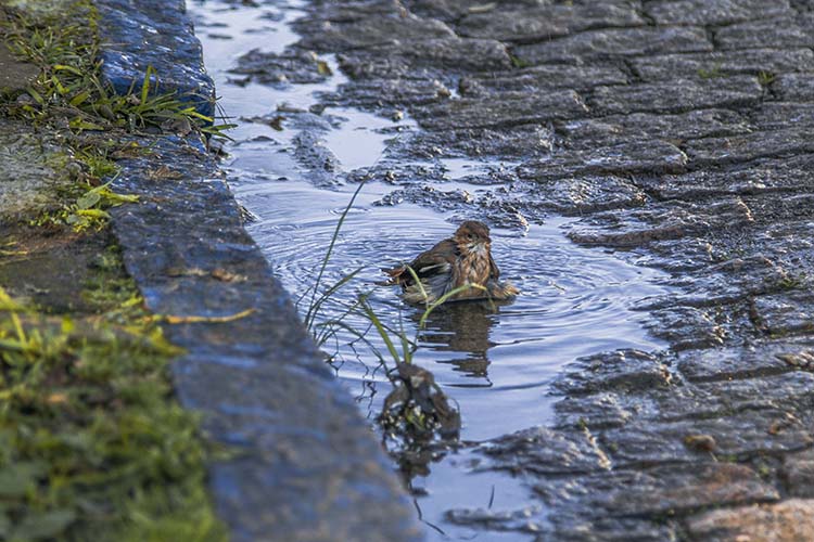
[[233, 125], [214, 125], [190, 105], [188, 95], [161, 92], [158, 75], [148, 67], [141, 85], [117, 94], [102, 81], [99, 59], [99, 14], [89, 0], [79, 0], [72, 13], [40, 14], [38, 17], [11, 10], [10, 21], [0, 27], [12, 50], [35, 64], [40, 75], [27, 96], [5, 104], [10, 114], [39, 125], [67, 127], [75, 133], [87, 130], [138, 132], [151, 127], [199, 131], [222, 136]]

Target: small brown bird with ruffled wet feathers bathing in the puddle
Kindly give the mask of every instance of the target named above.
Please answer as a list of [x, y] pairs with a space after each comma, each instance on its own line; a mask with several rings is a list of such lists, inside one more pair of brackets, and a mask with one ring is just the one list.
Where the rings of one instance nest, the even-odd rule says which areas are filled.
[[499, 282], [500, 269], [492, 258], [489, 229], [476, 220], [462, 222], [451, 237], [411, 262], [382, 271], [390, 276], [383, 284], [402, 286], [404, 299], [411, 304], [430, 305], [450, 292], [455, 293], [445, 300], [501, 300], [520, 294], [511, 283]]

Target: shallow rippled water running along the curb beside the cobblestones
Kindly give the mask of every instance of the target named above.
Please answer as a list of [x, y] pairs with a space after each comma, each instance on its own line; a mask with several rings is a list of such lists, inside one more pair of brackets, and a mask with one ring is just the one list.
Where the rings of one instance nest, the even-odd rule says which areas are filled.
[[[232, 82], [240, 76], [229, 69], [240, 55], [252, 49], [282, 53], [297, 41], [290, 23], [303, 15], [300, 2], [250, 7], [198, 1], [190, 3], [190, 11], [221, 96], [220, 106], [238, 124], [230, 132], [234, 142], [227, 145], [229, 157], [224, 165], [230, 184], [256, 217], [249, 224], [250, 233], [277, 276], [297, 297], [314, 284], [336, 221], [357, 188], [346, 175], [380, 159], [397, 162], [397, 156], [386, 153], [387, 145], [418, 128], [409, 119], [394, 121], [347, 108], [319, 107], [313, 109], [318, 113], [306, 114], [319, 103], [315, 93], [334, 91], [345, 80], [330, 56], [323, 61], [332, 76], [322, 82]], [[275, 122], [278, 108], [300, 120]], [[265, 120], [257, 121], [260, 117]], [[335, 157], [340, 167], [315, 175], [314, 160], [302, 157], [303, 138], [320, 156]], [[498, 193], [498, 183], [467, 180], [516, 165], [457, 158], [425, 166], [441, 171], [438, 185], [445, 190]], [[364, 270], [326, 304], [322, 318], [342, 314], [358, 293], [371, 292], [376, 312], [392, 325], [404, 325], [411, 336], [420, 314], [402, 304], [395, 289], [376, 286], [382, 279], [379, 268], [408, 260], [448, 236], [460, 216], [432, 206], [381, 205], [393, 190], [384, 180], [372, 178], [356, 199], [338, 237], [325, 284], [357, 268]], [[571, 243], [564, 235], [571, 222], [551, 216], [527, 228], [493, 229], [495, 259], [522, 295], [500, 307], [470, 302], [442, 308], [420, 336], [417, 362], [432, 371], [459, 404], [465, 442], [483, 442], [549, 423], [555, 401], [548, 393], [549, 383], [563, 364], [576, 358], [618, 348], [650, 351], [663, 347], [645, 331], [647, 313], [631, 308], [643, 298], [664, 294], [666, 288], [658, 284], [664, 276], [625, 261], [631, 258]], [[357, 330], [369, 325], [353, 315], [345, 323]], [[369, 337], [377, 343], [373, 334]], [[376, 357], [358, 343], [348, 345], [352, 339], [340, 336], [326, 349], [338, 353], [334, 365], [340, 379], [372, 421], [389, 383]], [[529, 490], [508, 474], [470, 472], [474, 461], [470, 448], [443, 454], [429, 465], [429, 474], [411, 479], [416, 505], [423, 520], [434, 526], [428, 528], [428, 535], [522, 539], [517, 532], [483, 533], [445, 521], [445, 512], [451, 508], [491, 508], [522, 516], [532, 501]]]

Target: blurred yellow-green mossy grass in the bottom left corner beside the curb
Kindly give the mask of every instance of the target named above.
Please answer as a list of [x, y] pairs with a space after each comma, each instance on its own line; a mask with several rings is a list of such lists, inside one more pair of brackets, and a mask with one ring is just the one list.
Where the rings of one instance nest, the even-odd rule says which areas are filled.
[[0, 538], [226, 540], [205, 490], [212, 451], [173, 398], [179, 350], [129, 280], [98, 286], [100, 312], [80, 319], [0, 288]]

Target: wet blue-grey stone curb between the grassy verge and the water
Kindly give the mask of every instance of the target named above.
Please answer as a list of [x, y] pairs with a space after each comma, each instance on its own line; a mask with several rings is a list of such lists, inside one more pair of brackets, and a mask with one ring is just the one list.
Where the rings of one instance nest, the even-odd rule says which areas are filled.
[[[156, 10], [153, 0], [97, 3], [104, 13], [126, 7], [120, 13], [132, 21], [160, 17], [152, 26], [161, 28], [158, 42], [174, 36], [185, 43], [178, 48], [182, 54], [164, 51], [162, 62], [208, 80], [182, 11]], [[141, 65], [128, 59], [153, 49], [152, 35], [122, 31], [119, 23], [102, 17], [103, 35], [118, 44], [102, 53], [104, 75], [138, 79]], [[123, 43], [133, 38], [130, 51]], [[194, 57], [187, 54], [193, 50]], [[111, 215], [148, 307], [185, 317], [245, 314], [165, 327], [169, 340], [187, 350], [173, 366], [180, 401], [203, 415], [215, 440], [238, 451], [209, 470], [232, 540], [420, 540], [392, 466], [243, 229], [240, 209], [202, 142], [163, 137], [133, 143], [144, 152], [118, 163], [115, 188], [141, 202]]]

